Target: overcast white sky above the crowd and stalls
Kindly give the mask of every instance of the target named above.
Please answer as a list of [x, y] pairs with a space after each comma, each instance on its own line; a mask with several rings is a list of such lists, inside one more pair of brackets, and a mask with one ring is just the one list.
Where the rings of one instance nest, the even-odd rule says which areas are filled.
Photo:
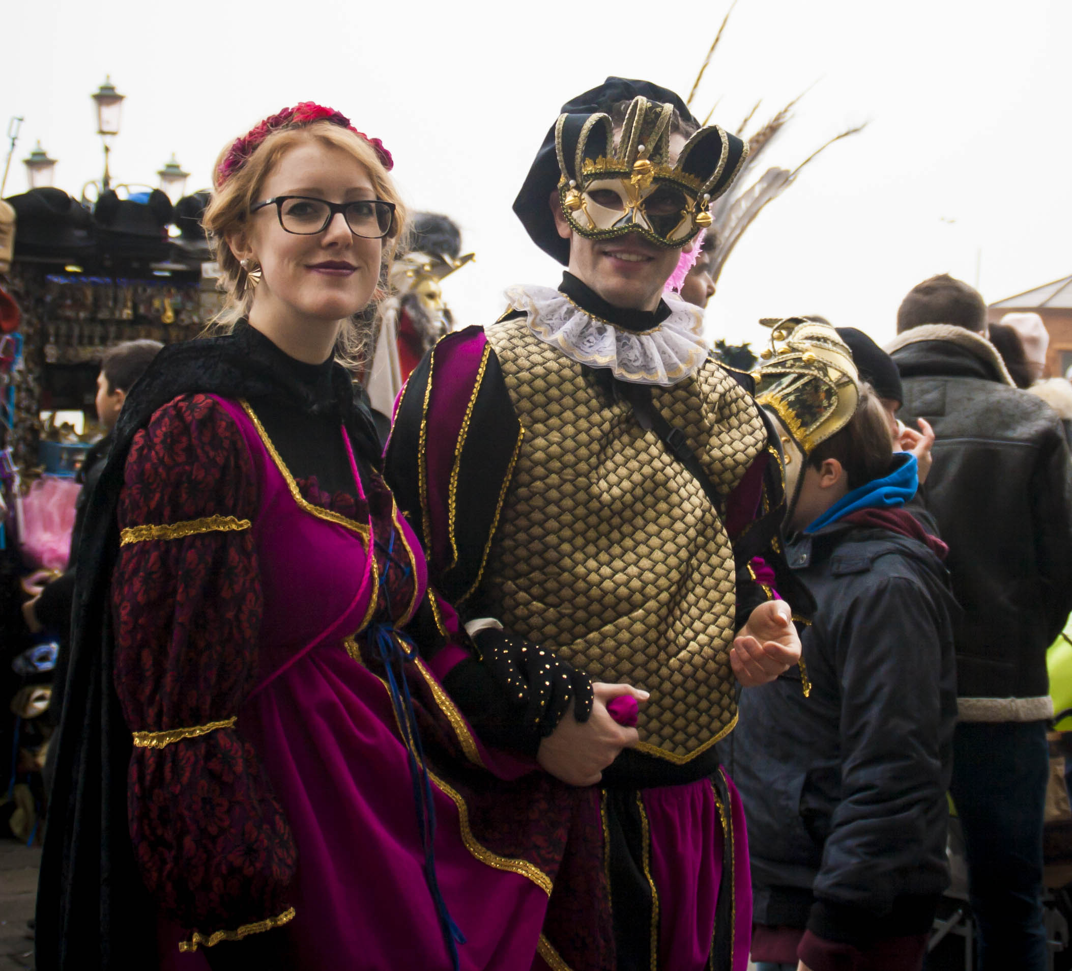
[[[445, 283], [460, 324], [489, 323], [503, 289], [557, 265], [510, 204], [563, 101], [607, 74], [687, 95], [728, 0], [354, 2], [35, 0], [6, 4], [0, 122], [25, 117], [5, 194], [40, 139], [57, 185], [100, 175], [90, 94], [110, 74], [122, 132], [111, 172], [155, 183], [177, 152], [193, 190], [220, 148], [314, 100], [393, 152], [416, 208], [461, 224], [477, 262]], [[666, 19], [654, 19], [665, 13]], [[1072, 273], [1069, 0], [740, 0], [694, 104], [735, 128], [819, 82], [764, 157], [832, 147], [748, 230], [708, 310], [712, 336], [823, 313], [877, 340], [900, 298], [949, 271], [988, 301]], [[2, 131], [0, 131], [2, 133]]]

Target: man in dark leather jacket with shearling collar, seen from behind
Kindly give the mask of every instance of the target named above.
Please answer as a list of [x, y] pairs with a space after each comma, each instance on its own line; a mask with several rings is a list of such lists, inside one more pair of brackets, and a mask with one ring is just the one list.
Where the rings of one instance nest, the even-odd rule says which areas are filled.
[[1053, 715], [1046, 648], [1072, 609], [1072, 465], [1060, 421], [1013, 386], [986, 305], [948, 275], [913, 288], [889, 351], [907, 417], [934, 426], [928, 511], [949, 544], [964, 827], [980, 968], [1046, 967], [1042, 821]]

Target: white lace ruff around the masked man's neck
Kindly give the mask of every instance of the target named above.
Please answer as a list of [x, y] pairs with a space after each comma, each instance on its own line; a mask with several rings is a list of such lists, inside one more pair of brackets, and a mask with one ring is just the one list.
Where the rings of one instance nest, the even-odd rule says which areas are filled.
[[670, 294], [664, 295], [670, 317], [641, 334], [592, 317], [550, 286], [511, 286], [506, 298], [527, 314], [540, 340], [578, 364], [610, 368], [622, 381], [668, 387], [694, 374], [708, 356], [703, 313]]

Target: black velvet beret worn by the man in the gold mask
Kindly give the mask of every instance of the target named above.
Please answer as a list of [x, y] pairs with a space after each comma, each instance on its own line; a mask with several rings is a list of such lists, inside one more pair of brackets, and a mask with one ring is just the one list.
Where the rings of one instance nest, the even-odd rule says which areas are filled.
[[[631, 101], [637, 95], [669, 102], [685, 121], [698, 124], [685, 102], [668, 88], [660, 88], [647, 80], [630, 80], [625, 77], [608, 77], [601, 85], [578, 94], [567, 101], [560, 112], [562, 115], [592, 115], [608, 112], [620, 101]], [[554, 226], [550, 196], [559, 185], [561, 172], [554, 146], [555, 126], [548, 129], [544, 143], [536, 152], [536, 159], [525, 176], [524, 185], [513, 201], [513, 211], [525, 227], [533, 242], [545, 253], [554, 256], [563, 266], [569, 263], [569, 240], [563, 239]]]

